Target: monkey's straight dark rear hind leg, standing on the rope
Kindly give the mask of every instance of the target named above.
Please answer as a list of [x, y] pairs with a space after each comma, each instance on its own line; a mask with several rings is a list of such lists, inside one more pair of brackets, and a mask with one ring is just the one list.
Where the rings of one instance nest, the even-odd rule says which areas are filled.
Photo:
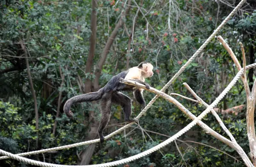
[[112, 94], [113, 94], [112, 92], [105, 93], [101, 101], [102, 116], [101, 116], [101, 120], [98, 128], [100, 143], [104, 142], [103, 130], [107, 126], [110, 119], [110, 115], [111, 115]]

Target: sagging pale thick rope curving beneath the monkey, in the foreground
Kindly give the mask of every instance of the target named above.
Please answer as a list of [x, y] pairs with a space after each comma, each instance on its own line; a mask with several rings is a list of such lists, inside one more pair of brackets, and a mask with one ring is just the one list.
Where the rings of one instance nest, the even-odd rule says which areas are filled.
[[[254, 68], [256, 67], [256, 63], [251, 64], [249, 66], [246, 66], [246, 69], [250, 69], [250, 68]], [[193, 126], [195, 126], [195, 124], [198, 123], [198, 121], [200, 121], [202, 118], [204, 118], [205, 115], [207, 115], [207, 113], [210, 112], [210, 109], [213, 109], [213, 107], [215, 107], [222, 98], [224, 98], [224, 96], [230, 91], [230, 89], [232, 88], [232, 86], [234, 86], [236, 84], [236, 81], [238, 81], [238, 79], [241, 77], [241, 75], [243, 75], [243, 68], [237, 73], [236, 77], [233, 78], [233, 80], [230, 82], [230, 84], [224, 89], [223, 92], [221, 92], [221, 94], [218, 96], [218, 98], [216, 98], [216, 100], [207, 107], [207, 109], [204, 110], [204, 112], [202, 112], [197, 118], [195, 118], [191, 123], [189, 123], [186, 127], [184, 127], [182, 130], [180, 130], [179, 132], [177, 132], [175, 135], [173, 135], [172, 137], [170, 137], [169, 139], [167, 139], [166, 141], [163, 141], [162, 143], [158, 144], [155, 147], [152, 147], [149, 150], [144, 151], [143, 153], [139, 153], [137, 155], [122, 159], [122, 160], [118, 160], [118, 161], [113, 161], [113, 162], [108, 162], [105, 164], [95, 164], [95, 165], [60, 165], [60, 164], [49, 164], [49, 163], [45, 163], [45, 162], [41, 162], [41, 161], [35, 161], [35, 160], [31, 160], [29, 158], [24, 158], [12, 153], [8, 153], [4, 150], [0, 149], [0, 154], [2, 155], [6, 155], [12, 159], [16, 159], [18, 161], [23, 161], [27, 164], [32, 164], [32, 165], [37, 165], [40, 167], [113, 167], [116, 165], [120, 165], [120, 164], [125, 164], [128, 163], [130, 161], [134, 161], [136, 159], [142, 158], [146, 155], [149, 155], [163, 147], [165, 147], [167, 144], [171, 143], [172, 141], [175, 141], [177, 138], [179, 138], [181, 135], [183, 135], [185, 132], [187, 132], [188, 130], [190, 130]], [[253, 167], [253, 165], [251, 166]]]

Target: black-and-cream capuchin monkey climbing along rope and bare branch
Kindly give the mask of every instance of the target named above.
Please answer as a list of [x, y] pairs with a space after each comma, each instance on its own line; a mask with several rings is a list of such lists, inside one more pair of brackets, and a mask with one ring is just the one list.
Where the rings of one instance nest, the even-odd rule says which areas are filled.
[[138, 66], [132, 67], [126, 71], [120, 72], [113, 76], [108, 83], [99, 89], [97, 92], [90, 92], [83, 95], [77, 95], [67, 100], [64, 105], [64, 112], [68, 117], [73, 117], [73, 113], [70, 111], [71, 105], [75, 103], [81, 103], [85, 101], [96, 101], [101, 99], [101, 121], [99, 123], [98, 133], [100, 142], [104, 142], [103, 129], [107, 126], [111, 116], [111, 105], [112, 103], [122, 106], [125, 121], [132, 122], [136, 120], [130, 120], [131, 115], [131, 99], [119, 91], [133, 91], [135, 99], [144, 108], [146, 106], [143, 98], [143, 90], [136, 88], [135, 86], [120, 83], [120, 78], [136, 81], [142, 83], [149, 89], [149, 84], [145, 83], [145, 78], [153, 76], [153, 66], [151, 63], [142, 62]]

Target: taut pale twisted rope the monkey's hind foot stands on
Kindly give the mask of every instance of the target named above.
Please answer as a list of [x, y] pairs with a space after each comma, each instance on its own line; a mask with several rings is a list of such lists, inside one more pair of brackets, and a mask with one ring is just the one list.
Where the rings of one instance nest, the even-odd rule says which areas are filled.
[[[161, 91], [165, 91], [171, 84], [173, 81], [175, 81], [175, 79], [177, 79], [177, 77], [186, 69], [186, 67], [198, 56], [198, 54], [205, 48], [205, 46], [207, 46], [207, 44], [210, 42], [210, 40], [212, 40], [213, 37], [215, 37], [215, 35], [220, 31], [220, 29], [227, 23], [228, 20], [230, 20], [230, 18], [237, 12], [237, 10], [243, 5], [243, 3], [246, 0], [241, 0], [241, 2], [236, 6], [235, 9], [233, 9], [233, 11], [225, 18], [225, 20], [218, 26], [218, 28], [212, 33], [211, 36], [208, 37], [208, 39], [203, 43], [203, 45], [195, 52], [194, 55], [192, 55], [192, 57], [180, 68], [180, 70], [172, 77], [172, 79], [166, 83], [165, 86], [163, 86], [163, 88], [161, 89]], [[151, 105], [157, 100], [157, 98], [159, 97], [159, 95], [156, 95], [148, 104], [147, 106], [140, 112], [140, 114], [135, 118], [135, 119], [140, 119], [140, 117], [151, 107]], [[105, 136], [105, 139], [111, 138], [112, 136], [122, 132], [123, 130], [125, 130], [128, 127], [131, 127], [131, 125], [134, 124], [134, 122], [125, 125], [124, 127], [120, 128], [119, 130], [116, 130], [115, 132], [112, 132], [111, 134]], [[33, 155], [33, 154], [39, 154], [39, 153], [46, 153], [49, 151], [56, 151], [56, 150], [63, 150], [63, 149], [68, 149], [68, 148], [72, 148], [72, 147], [78, 147], [78, 146], [82, 146], [82, 145], [86, 145], [86, 144], [93, 144], [93, 143], [97, 143], [99, 142], [99, 139], [95, 139], [95, 140], [90, 140], [90, 141], [84, 141], [84, 142], [80, 142], [80, 143], [76, 143], [76, 144], [69, 144], [66, 146], [60, 146], [60, 147], [54, 147], [54, 148], [49, 148], [49, 149], [44, 149], [44, 150], [37, 150], [37, 151], [31, 151], [31, 152], [27, 152], [27, 153], [19, 153], [17, 155], [20, 156], [26, 156], [26, 155]], [[1, 156], [1, 159], [7, 159], [9, 157], [7, 156]]]

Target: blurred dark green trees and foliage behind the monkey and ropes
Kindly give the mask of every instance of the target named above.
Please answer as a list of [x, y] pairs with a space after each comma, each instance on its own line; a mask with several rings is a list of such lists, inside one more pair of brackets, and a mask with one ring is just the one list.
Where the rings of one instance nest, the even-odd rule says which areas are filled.
[[[75, 119], [63, 114], [68, 98], [98, 90], [117, 73], [141, 61], [154, 65], [146, 80], [161, 89], [195, 53], [240, 0], [2, 0], [0, 2], [0, 148], [11, 153], [63, 146], [98, 138], [99, 104], [73, 105]], [[241, 62], [255, 63], [256, 1], [247, 0], [221, 35]], [[166, 93], [192, 97], [189, 86], [208, 104], [237, 73], [215, 38]], [[250, 87], [255, 71], [247, 72]], [[125, 92], [132, 97], [132, 93]], [[148, 103], [154, 94], [144, 92]], [[193, 114], [205, 107], [177, 98]], [[241, 81], [218, 104], [221, 111], [246, 104]], [[140, 105], [133, 99], [135, 117]], [[113, 115], [105, 135], [124, 126], [122, 109]], [[249, 153], [245, 109], [218, 112]], [[202, 121], [226, 136], [214, 116]], [[159, 98], [133, 125], [104, 144], [92, 144], [32, 155], [54, 164], [100, 164], [127, 158], [163, 142], [191, 122], [177, 107]], [[119, 167], [242, 167], [235, 150], [198, 126], [160, 151]], [[211, 146], [211, 147], [209, 147]], [[180, 150], [177, 150], [177, 147]], [[219, 150], [222, 150], [219, 151]], [[12, 159], [4, 167], [30, 165]]]

